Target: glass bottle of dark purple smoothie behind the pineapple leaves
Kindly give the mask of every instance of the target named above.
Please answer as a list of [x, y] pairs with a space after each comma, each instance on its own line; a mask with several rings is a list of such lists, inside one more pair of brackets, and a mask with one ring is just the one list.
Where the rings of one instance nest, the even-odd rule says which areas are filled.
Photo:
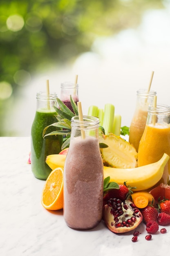
[[60, 100], [73, 112], [73, 108], [70, 102], [70, 95], [74, 99], [75, 103], [79, 101], [78, 99], [78, 84], [77, 83], [70, 83], [64, 82], [61, 83], [60, 86]]

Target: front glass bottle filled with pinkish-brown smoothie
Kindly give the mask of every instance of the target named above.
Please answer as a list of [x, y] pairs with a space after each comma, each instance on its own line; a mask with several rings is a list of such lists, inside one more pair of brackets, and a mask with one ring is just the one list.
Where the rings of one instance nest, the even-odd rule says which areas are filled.
[[[64, 218], [73, 229], [92, 229], [102, 218], [103, 161], [97, 117], [72, 117], [69, 150], [64, 166]], [[83, 137], [83, 135], [85, 137]]]

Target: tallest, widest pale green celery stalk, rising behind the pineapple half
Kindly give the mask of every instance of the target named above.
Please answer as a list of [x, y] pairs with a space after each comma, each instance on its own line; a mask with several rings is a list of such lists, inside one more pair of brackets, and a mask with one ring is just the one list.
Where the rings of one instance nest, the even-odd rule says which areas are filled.
[[105, 134], [113, 133], [113, 123], [114, 123], [114, 106], [110, 103], [105, 104], [104, 117], [103, 117], [103, 128], [105, 129]]

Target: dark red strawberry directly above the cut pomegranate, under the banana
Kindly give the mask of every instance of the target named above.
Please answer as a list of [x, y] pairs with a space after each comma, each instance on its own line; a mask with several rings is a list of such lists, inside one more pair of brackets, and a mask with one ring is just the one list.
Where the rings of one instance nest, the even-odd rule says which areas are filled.
[[103, 203], [107, 204], [107, 201], [110, 198], [116, 198], [120, 199], [121, 201], [125, 201], [132, 193], [130, 189], [130, 187], [126, 186], [126, 182], [124, 182], [124, 185], [119, 185], [119, 189], [110, 189], [103, 196]]

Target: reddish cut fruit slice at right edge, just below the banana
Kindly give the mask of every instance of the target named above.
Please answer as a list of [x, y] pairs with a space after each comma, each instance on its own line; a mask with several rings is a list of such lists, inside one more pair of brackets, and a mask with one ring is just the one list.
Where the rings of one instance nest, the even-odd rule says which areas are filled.
[[167, 198], [170, 200], [170, 186], [167, 184], [161, 183], [156, 188], [152, 189], [150, 193], [154, 196], [155, 201], [163, 200], [163, 198]]

